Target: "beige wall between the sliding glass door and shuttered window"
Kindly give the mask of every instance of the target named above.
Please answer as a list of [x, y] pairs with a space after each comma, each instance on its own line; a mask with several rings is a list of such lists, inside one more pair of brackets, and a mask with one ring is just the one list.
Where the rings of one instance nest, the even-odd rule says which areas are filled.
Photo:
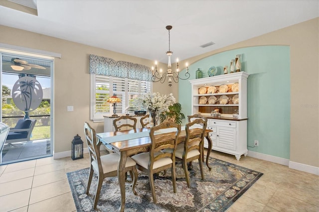
[[[103, 122], [90, 121], [89, 55], [110, 57], [152, 67], [154, 61], [82, 45], [29, 31], [0, 25], [0, 43], [60, 53], [54, 61], [54, 152], [71, 150], [71, 141], [79, 134], [84, 141], [85, 121], [103, 132]], [[159, 64], [164, 70], [166, 64]], [[154, 92], [171, 93], [167, 84], [155, 83]], [[72, 94], [72, 95], [70, 95]], [[178, 93], [177, 93], [178, 94]], [[177, 95], [176, 94], [176, 95]], [[74, 106], [74, 111], [67, 111]]]

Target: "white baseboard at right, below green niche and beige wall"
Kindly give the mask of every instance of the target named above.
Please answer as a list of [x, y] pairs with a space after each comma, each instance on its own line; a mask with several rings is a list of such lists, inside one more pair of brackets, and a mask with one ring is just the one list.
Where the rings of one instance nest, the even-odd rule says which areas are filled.
[[278, 163], [278, 164], [281, 164], [284, 166], [288, 166], [291, 169], [296, 169], [299, 171], [319, 175], [319, 167], [310, 166], [310, 165], [302, 164], [302, 163], [296, 163], [296, 162], [292, 162], [292, 161], [285, 159], [285, 158], [280, 158], [280, 157], [276, 157], [276, 156], [272, 156], [272, 155], [266, 155], [266, 154], [259, 153], [259, 152], [248, 151], [247, 155], [250, 157], [253, 157], [253, 158], [266, 160], [266, 161], [270, 161], [273, 163]]

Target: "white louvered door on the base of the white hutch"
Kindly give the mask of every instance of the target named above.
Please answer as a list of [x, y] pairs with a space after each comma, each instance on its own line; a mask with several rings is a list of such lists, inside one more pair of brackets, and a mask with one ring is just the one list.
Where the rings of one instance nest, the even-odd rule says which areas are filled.
[[216, 130], [217, 146], [236, 150], [236, 128], [219, 126]]

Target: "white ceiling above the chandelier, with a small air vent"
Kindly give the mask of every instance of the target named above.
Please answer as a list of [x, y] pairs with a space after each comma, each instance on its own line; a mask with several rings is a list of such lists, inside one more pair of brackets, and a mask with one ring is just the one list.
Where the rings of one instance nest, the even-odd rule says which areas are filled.
[[173, 62], [318, 17], [319, 0], [37, 0], [36, 9], [0, 5], [0, 24], [167, 63], [166, 25]]

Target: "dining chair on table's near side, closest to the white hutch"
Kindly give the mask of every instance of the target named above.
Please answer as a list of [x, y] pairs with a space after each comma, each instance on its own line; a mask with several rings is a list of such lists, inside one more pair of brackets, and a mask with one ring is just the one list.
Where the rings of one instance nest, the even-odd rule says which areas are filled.
[[[206, 119], [206, 120], [205, 120]], [[197, 125], [193, 128], [192, 126]], [[198, 127], [200, 125], [201, 127]], [[183, 143], [177, 145], [175, 150], [176, 161], [182, 162], [182, 167], [184, 170], [186, 182], [188, 188], [190, 188], [190, 180], [187, 169], [187, 163], [198, 159], [201, 179], [204, 180], [203, 172], [203, 145], [204, 145], [204, 135], [207, 126], [207, 118], [196, 118], [191, 122], [188, 122], [185, 126], [186, 138]]]

